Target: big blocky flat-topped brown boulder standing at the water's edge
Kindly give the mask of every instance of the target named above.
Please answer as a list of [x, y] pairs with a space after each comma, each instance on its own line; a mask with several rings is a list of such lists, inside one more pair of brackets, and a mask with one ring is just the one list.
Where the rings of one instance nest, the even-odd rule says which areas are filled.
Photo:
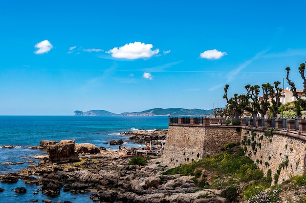
[[75, 140], [62, 140], [60, 143], [48, 144], [47, 153], [51, 162], [79, 162], [74, 149]]

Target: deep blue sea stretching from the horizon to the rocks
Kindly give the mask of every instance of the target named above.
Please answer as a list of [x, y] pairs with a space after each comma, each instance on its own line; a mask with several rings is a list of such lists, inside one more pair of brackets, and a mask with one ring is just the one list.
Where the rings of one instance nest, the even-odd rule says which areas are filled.
[[[129, 142], [129, 136], [120, 135], [121, 132], [132, 130], [168, 129], [167, 116], [0, 116], [0, 174], [13, 173], [29, 164], [37, 164], [37, 155], [46, 155], [44, 149], [30, 149], [38, 146], [41, 140], [75, 140], [76, 143], [92, 143], [97, 147], [110, 147], [117, 150], [117, 146], [109, 145], [110, 140], [122, 139], [127, 147], [138, 147], [139, 143]], [[2, 146], [12, 145], [13, 148]], [[23, 162], [22, 164], [5, 164], [5, 162]], [[18, 194], [16, 187], [25, 187], [27, 193]], [[76, 194], [64, 192], [58, 197], [48, 197], [38, 192], [39, 185], [25, 184], [21, 180], [14, 184], [1, 183], [1, 203], [29, 203], [33, 200], [70, 201], [72, 203], [91, 203], [91, 193]]]

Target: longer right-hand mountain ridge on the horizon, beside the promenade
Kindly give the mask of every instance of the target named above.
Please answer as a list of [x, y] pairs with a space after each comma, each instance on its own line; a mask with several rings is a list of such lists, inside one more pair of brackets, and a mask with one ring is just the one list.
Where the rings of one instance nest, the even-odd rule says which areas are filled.
[[202, 116], [212, 113], [212, 110], [184, 109], [184, 108], [153, 108], [141, 112], [125, 112], [121, 116]]

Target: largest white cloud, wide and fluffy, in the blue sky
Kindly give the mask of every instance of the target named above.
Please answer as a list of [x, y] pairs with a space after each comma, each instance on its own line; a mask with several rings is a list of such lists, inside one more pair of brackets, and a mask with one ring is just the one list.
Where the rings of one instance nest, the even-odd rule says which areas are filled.
[[158, 54], [159, 49], [152, 50], [152, 44], [145, 44], [139, 41], [129, 43], [124, 46], [114, 47], [106, 53], [111, 54], [113, 58], [119, 59], [141, 59], [150, 58], [155, 54]]

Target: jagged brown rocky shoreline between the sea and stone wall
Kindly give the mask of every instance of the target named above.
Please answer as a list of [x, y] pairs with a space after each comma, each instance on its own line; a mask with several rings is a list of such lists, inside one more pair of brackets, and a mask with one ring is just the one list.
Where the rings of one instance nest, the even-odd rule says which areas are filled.
[[[139, 132], [137, 132], [139, 133]], [[151, 133], [151, 135], [149, 135]], [[147, 140], [147, 137], [163, 138], [161, 133], [150, 132], [134, 134]], [[48, 142], [48, 141], [47, 141]], [[218, 196], [218, 190], [201, 190], [191, 180], [191, 176], [161, 175], [165, 166], [161, 166], [161, 156], [148, 156], [145, 166], [131, 165], [132, 157], [124, 156], [122, 152], [98, 149], [89, 143], [87, 147], [78, 146], [78, 160], [66, 161], [59, 155], [70, 156], [75, 153], [67, 148], [72, 141], [41, 142], [40, 147], [46, 147], [48, 157], [32, 167], [16, 173], [0, 175], [1, 183], [16, 183], [19, 179], [27, 184], [37, 184], [42, 192], [49, 197], [60, 195], [60, 190], [71, 193], [91, 193], [88, 201], [105, 203], [223, 203], [224, 198]], [[77, 144], [76, 144], [77, 145]], [[88, 148], [93, 151], [88, 151]], [[50, 152], [53, 151], [51, 154]], [[66, 151], [64, 150], [66, 149]], [[82, 151], [80, 151], [82, 149]], [[96, 150], [99, 151], [96, 151]], [[66, 152], [70, 150], [70, 155]], [[86, 153], [88, 152], [88, 153]], [[73, 155], [74, 156], [74, 155]], [[20, 190], [20, 189], [18, 189]], [[16, 189], [15, 189], [16, 191]], [[5, 192], [5, 191], [3, 191]], [[197, 199], [198, 196], [207, 198]], [[48, 202], [48, 200], [41, 200]], [[50, 201], [51, 202], [51, 201]]]

